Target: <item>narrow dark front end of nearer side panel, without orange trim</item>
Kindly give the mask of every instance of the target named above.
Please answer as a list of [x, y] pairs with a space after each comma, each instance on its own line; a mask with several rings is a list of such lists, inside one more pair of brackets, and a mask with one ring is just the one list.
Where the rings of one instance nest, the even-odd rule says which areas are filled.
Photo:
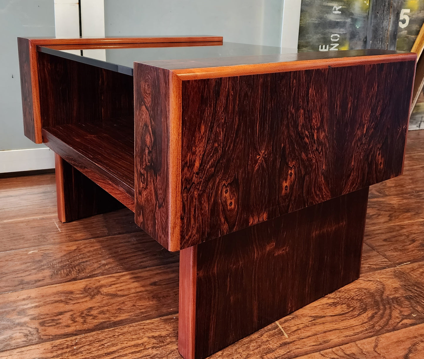
[[134, 63], [135, 222], [168, 250], [179, 250], [170, 240], [170, 76]]

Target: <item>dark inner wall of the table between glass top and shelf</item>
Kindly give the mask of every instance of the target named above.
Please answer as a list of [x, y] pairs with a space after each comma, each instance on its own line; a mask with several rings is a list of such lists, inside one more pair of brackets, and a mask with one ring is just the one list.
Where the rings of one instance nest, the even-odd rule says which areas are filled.
[[38, 53], [42, 127], [134, 116], [133, 78]]

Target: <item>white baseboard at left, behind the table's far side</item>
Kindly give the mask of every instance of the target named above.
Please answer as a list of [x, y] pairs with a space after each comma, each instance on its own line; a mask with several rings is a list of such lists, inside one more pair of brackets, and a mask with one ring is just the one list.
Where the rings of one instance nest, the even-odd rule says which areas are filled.
[[54, 168], [54, 152], [49, 148], [0, 151], [0, 173]]

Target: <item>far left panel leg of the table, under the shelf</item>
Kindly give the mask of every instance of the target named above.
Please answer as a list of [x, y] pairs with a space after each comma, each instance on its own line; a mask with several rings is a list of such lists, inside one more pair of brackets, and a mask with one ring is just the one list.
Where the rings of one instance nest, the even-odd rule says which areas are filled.
[[123, 208], [103, 188], [55, 154], [57, 214], [61, 222]]

